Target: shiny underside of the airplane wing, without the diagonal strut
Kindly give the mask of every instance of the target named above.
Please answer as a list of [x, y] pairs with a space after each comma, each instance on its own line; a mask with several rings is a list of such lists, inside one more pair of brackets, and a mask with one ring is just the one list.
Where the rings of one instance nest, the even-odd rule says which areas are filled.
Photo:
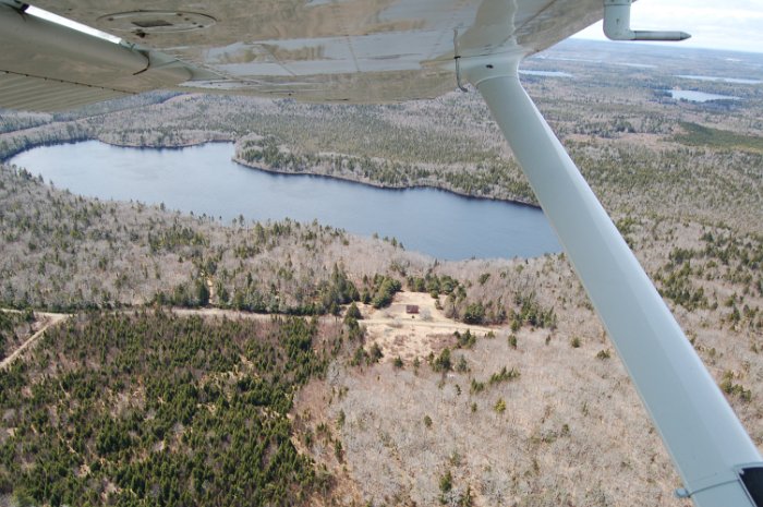
[[456, 86], [455, 57], [541, 51], [601, 0], [0, 0], [0, 107], [55, 110], [155, 88], [387, 102]]

